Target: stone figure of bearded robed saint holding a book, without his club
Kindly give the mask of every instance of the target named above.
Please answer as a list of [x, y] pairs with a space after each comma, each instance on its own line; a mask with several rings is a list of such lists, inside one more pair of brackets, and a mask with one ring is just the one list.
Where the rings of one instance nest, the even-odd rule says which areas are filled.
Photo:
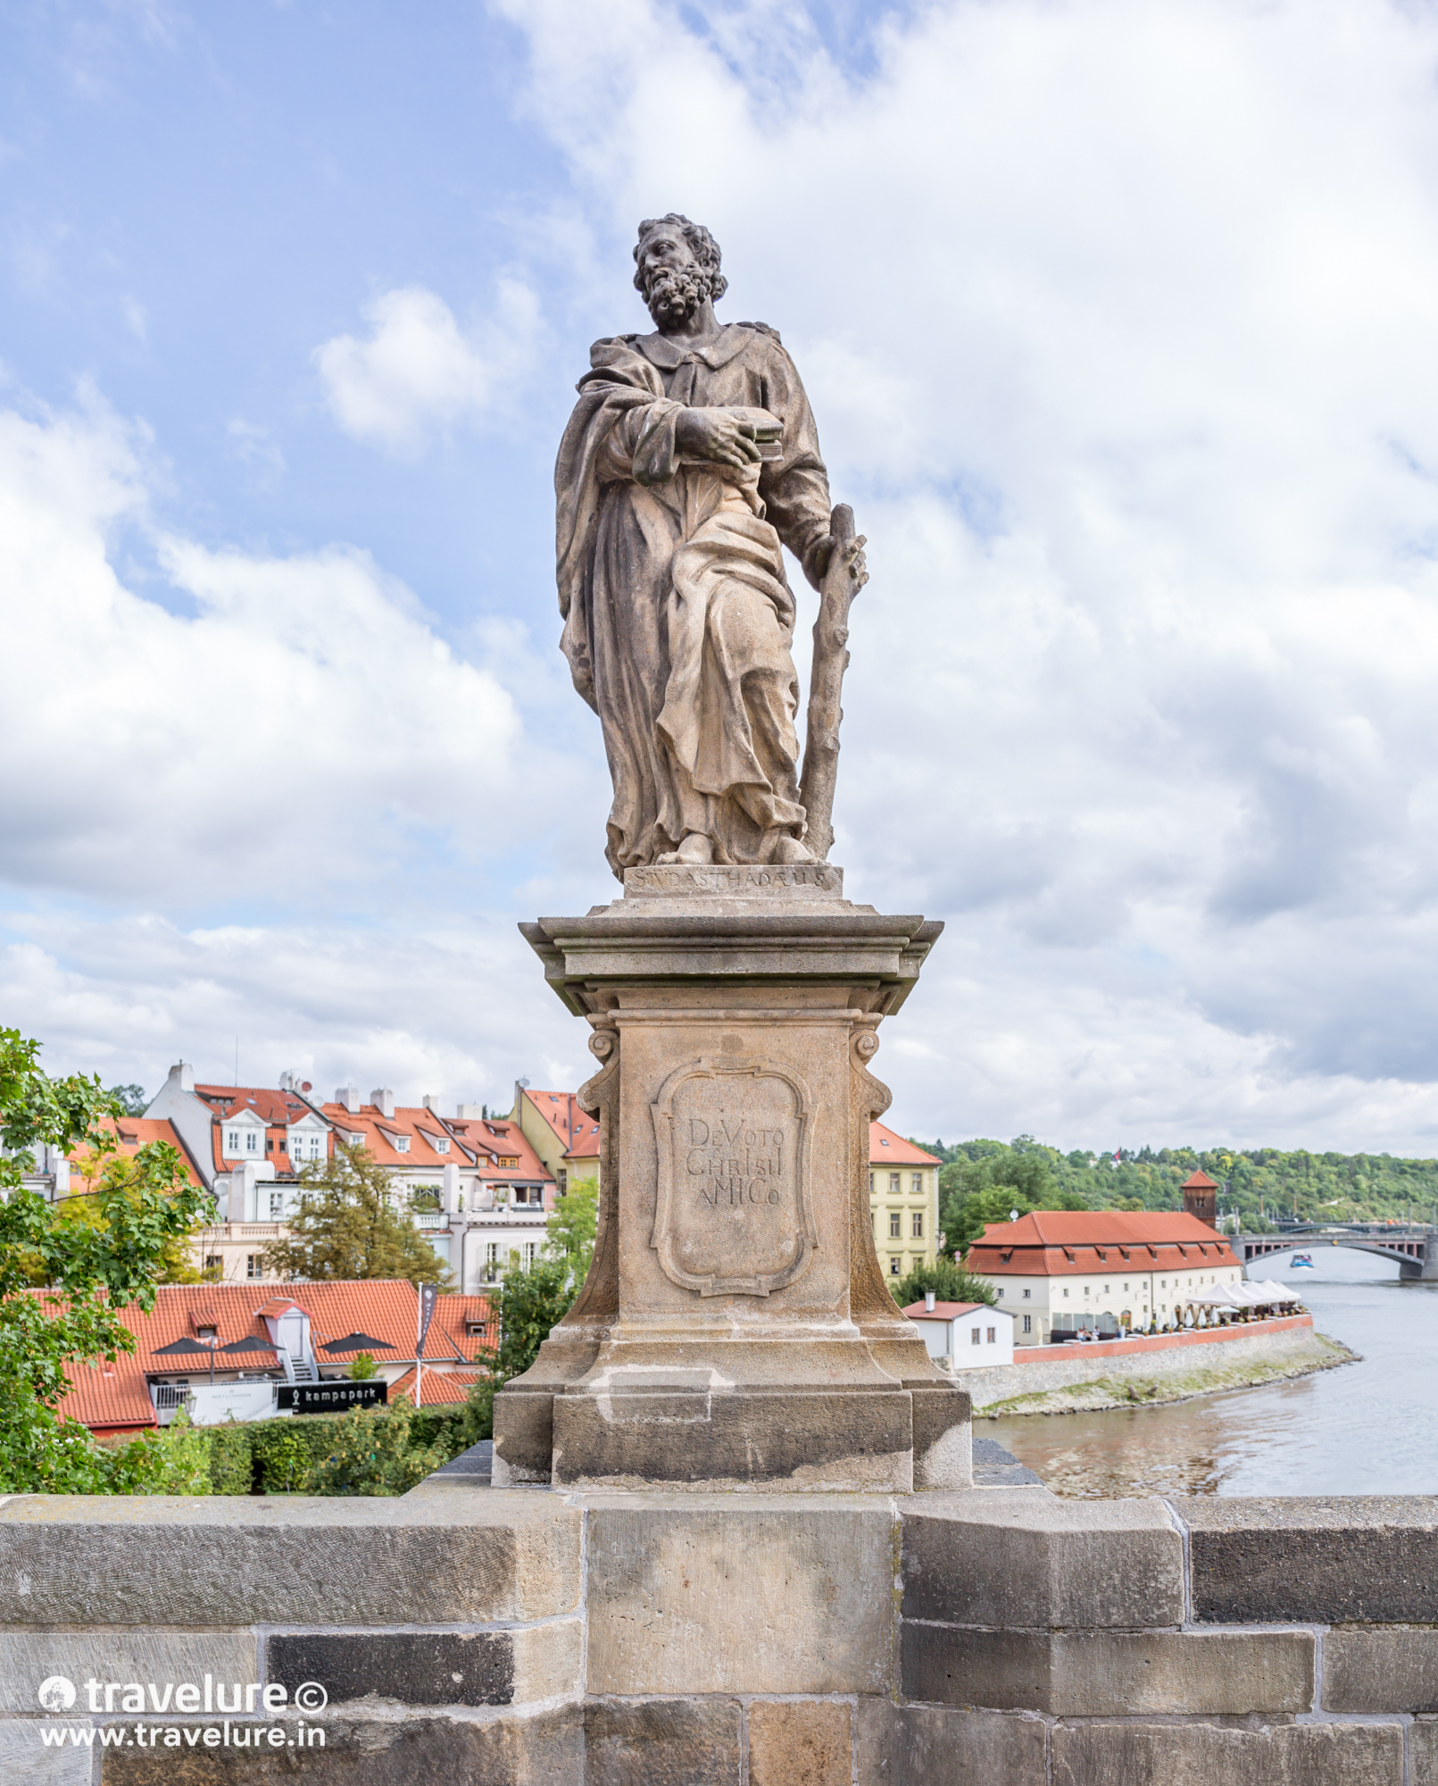
[[805, 388], [765, 323], [721, 323], [719, 245], [639, 225], [653, 334], [591, 348], [555, 468], [560, 648], [614, 777], [607, 855], [808, 863], [794, 595], [833, 541]]

